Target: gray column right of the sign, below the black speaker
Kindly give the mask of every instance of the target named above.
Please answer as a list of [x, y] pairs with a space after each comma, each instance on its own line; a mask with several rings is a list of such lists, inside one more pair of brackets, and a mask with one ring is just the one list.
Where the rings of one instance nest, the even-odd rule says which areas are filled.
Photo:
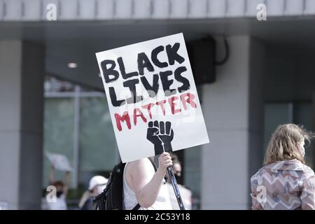
[[230, 59], [202, 89], [210, 138], [202, 146], [202, 209], [248, 209], [249, 181], [262, 164], [265, 47], [249, 36], [228, 42]]

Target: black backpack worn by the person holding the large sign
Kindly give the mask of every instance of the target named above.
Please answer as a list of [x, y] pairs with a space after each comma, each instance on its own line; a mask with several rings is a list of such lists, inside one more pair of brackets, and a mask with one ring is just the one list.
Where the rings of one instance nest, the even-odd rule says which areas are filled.
[[[155, 172], [157, 168], [151, 158], [148, 158]], [[109, 182], [106, 188], [100, 195], [97, 195], [93, 202], [97, 210], [123, 210], [123, 174], [126, 163], [120, 162], [113, 167]], [[138, 203], [132, 210], [138, 210], [140, 208]]]

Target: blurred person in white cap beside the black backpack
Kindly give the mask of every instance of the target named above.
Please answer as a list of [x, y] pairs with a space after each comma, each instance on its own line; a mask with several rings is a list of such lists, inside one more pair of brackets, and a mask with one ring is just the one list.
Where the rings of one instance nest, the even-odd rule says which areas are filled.
[[103, 192], [108, 181], [104, 176], [93, 176], [90, 179], [88, 190], [82, 195], [78, 204], [79, 209], [94, 210], [93, 199]]

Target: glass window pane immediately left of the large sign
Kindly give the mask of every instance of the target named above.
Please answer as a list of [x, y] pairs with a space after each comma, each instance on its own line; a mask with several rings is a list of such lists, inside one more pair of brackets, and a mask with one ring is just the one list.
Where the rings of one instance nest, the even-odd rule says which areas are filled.
[[113, 169], [118, 149], [105, 97], [81, 97], [79, 139], [80, 181]]

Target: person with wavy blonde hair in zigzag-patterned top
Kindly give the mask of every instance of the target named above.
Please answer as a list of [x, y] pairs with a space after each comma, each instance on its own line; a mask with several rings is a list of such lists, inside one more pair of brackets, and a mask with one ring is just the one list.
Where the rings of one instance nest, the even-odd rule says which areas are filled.
[[279, 125], [269, 141], [265, 166], [251, 178], [252, 209], [315, 209], [315, 176], [304, 165], [304, 141], [314, 134]]

